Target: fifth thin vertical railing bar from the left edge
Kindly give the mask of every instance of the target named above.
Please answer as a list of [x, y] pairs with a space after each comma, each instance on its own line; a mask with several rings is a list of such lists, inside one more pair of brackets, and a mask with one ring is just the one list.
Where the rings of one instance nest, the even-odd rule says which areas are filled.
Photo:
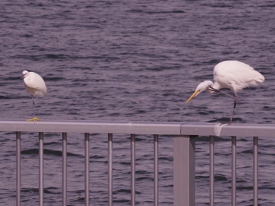
[[108, 134], [108, 206], [113, 205], [113, 134]]

